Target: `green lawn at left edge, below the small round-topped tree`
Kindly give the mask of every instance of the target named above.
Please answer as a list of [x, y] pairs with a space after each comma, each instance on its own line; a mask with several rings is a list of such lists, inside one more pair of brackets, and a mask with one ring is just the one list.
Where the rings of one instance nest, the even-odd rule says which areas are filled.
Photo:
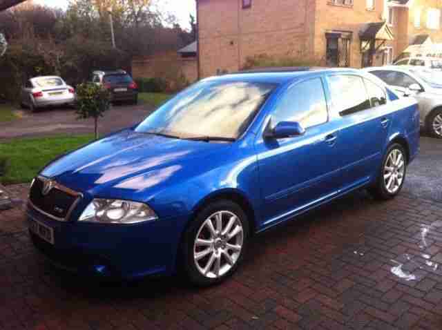
[[[93, 135], [14, 139], [0, 143], [0, 158], [7, 159], [3, 184], [30, 182], [52, 159], [92, 141]], [[0, 159], [1, 164], [1, 159]], [[1, 172], [1, 168], [0, 168]]]

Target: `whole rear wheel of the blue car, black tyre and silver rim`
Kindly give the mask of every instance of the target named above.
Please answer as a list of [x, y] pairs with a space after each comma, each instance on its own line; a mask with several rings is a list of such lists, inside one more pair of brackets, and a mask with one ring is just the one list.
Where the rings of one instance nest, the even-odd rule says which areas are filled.
[[401, 144], [392, 144], [385, 153], [381, 171], [369, 192], [379, 200], [391, 200], [402, 190], [407, 173], [407, 154]]

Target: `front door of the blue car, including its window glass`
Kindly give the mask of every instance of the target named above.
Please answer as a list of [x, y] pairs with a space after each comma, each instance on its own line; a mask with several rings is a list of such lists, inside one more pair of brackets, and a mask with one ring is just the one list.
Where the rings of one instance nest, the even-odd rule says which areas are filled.
[[306, 133], [285, 139], [257, 137], [262, 228], [327, 199], [338, 187], [340, 137], [336, 122], [329, 122], [321, 77], [287, 88], [269, 120], [271, 127], [298, 122]]

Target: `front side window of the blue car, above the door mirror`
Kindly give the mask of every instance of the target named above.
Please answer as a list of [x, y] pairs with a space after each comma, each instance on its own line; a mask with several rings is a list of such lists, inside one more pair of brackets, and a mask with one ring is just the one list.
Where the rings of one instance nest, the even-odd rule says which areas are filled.
[[328, 120], [323, 83], [320, 78], [291, 86], [282, 96], [271, 116], [273, 126], [279, 122], [298, 122], [304, 128]]

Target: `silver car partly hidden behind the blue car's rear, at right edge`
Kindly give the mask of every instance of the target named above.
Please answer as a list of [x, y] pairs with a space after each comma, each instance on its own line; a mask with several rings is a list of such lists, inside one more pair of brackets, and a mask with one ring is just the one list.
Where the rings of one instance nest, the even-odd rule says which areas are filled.
[[442, 139], [442, 72], [413, 66], [367, 68], [399, 95], [419, 102], [421, 126], [433, 137]]

